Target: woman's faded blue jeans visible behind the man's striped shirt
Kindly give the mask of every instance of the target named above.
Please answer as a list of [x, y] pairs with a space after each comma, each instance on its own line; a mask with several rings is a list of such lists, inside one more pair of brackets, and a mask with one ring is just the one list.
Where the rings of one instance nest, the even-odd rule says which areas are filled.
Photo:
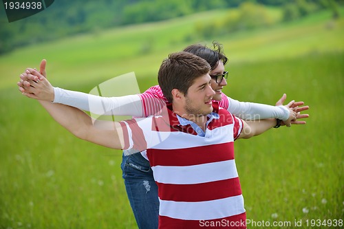
[[153, 179], [149, 161], [142, 157], [141, 153], [123, 154], [121, 168], [138, 228], [158, 228], [158, 186]]

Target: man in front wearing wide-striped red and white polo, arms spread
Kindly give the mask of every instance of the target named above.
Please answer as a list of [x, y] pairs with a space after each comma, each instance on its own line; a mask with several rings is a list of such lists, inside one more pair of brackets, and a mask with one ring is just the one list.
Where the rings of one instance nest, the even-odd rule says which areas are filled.
[[[89, 116], [72, 107], [41, 103], [78, 138], [114, 149], [147, 149], [159, 186], [160, 228], [193, 228], [204, 220], [242, 223], [246, 217], [233, 140], [263, 133], [274, 127], [276, 120], [244, 122], [224, 109], [217, 109], [215, 104], [213, 107], [215, 91], [210, 86], [209, 70], [202, 58], [186, 52], [171, 54], [162, 63], [158, 75], [160, 87], [171, 102], [169, 109], [158, 117], [114, 122], [117, 131], [94, 127]], [[27, 91], [34, 93], [40, 84], [47, 83], [44, 78], [37, 83], [32, 81], [33, 87]], [[294, 112], [292, 116], [291, 120], [295, 120]], [[197, 152], [200, 157], [194, 157]], [[216, 185], [223, 187], [219, 195], [211, 192]], [[185, 197], [182, 190], [189, 195]], [[194, 191], [200, 195], [196, 197]]]

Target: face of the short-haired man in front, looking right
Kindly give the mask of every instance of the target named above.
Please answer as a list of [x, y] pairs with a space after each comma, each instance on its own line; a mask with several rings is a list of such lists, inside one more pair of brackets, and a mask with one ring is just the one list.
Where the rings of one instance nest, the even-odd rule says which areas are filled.
[[206, 116], [213, 111], [211, 100], [214, 95], [209, 74], [196, 78], [185, 96], [184, 110], [189, 116]]

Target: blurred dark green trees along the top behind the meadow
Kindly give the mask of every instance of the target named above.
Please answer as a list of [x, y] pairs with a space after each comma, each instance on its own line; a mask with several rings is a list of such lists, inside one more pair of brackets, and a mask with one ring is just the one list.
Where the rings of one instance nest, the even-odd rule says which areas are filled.
[[[50, 8], [39, 14], [12, 23], [8, 23], [5, 14], [3, 14], [0, 17], [0, 54], [10, 52], [16, 47], [51, 41], [73, 34], [98, 32], [122, 25], [161, 21], [206, 10], [237, 8], [245, 2], [266, 6], [283, 6], [286, 8], [285, 20], [292, 20], [302, 17], [305, 12], [314, 11], [319, 6], [327, 7], [339, 1], [58, 0], [54, 1]], [[4, 9], [1, 10], [5, 12]]]

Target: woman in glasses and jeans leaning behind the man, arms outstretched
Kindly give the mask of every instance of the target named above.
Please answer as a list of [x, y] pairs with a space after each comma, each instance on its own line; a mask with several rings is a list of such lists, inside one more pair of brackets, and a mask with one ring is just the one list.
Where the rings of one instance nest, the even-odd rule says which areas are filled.
[[[211, 65], [211, 87], [215, 91], [213, 100], [219, 101], [219, 107], [228, 109], [230, 113], [244, 119], [254, 118], [278, 118], [285, 120], [287, 126], [290, 126], [288, 121], [291, 108], [302, 111], [308, 107], [298, 107], [303, 102], [295, 102], [293, 107], [282, 106], [283, 100], [286, 99], [284, 95], [279, 100], [277, 107], [269, 105], [261, 105], [252, 102], [239, 102], [227, 97], [222, 93], [223, 87], [226, 87], [228, 72], [225, 72], [224, 65], [228, 62], [226, 55], [222, 52], [222, 46], [213, 42], [213, 48], [208, 48], [204, 45], [190, 45], [184, 49], [197, 56], [204, 58]], [[41, 63], [41, 71], [45, 72], [45, 61]], [[35, 76], [37, 77], [37, 76]], [[27, 78], [22, 76], [22, 80]], [[25, 83], [28, 83], [25, 81]], [[21, 86], [22, 83], [19, 83]], [[27, 85], [28, 86], [28, 85]], [[40, 85], [42, 86], [42, 84]], [[21, 88], [23, 90], [23, 88]], [[142, 94], [103, 98], [99, 96], [92, 96], [78, 91], [69, 91], [57, 87], [40, 88], [39, 96], [34, 94], [26, 94], [36, 96], [40, 100], [52, 101], [54, 103], [62, 103], [72, 107], [78, 107], [89, 111], [89, 103], [101, 102], [105, 110], [100, 111], [92, 109], [92, 113], [97, 114], [115, 114], [115, 115], [130, 115], [147, 117], [158, 113], [164, 107], [166, 98], [162, 94], [159, 86], [154, 86], [144, 91]], [[25, 93], [25, 92], [24, 92]], [[102, 106], [103, 107], [103, 106]], [[120, 109], [118, 109], [120, 108]], [[289, 109], [289, 110], [288, 110]], [[303, 116], [303, 117], [302, 117]], [[306, 118], [307, 115], [298, 115], [298, 118]], [[294, 121], [293, 124], [304, 124], [303, 121]], [[129, 154], [123, 153], [122, 160], [123, 178], [125, 179], [125, 187], [131, 208], [133, 210], [136, 222], [139, 228], [157, 228], [158, 227], [158, 186], [156, 186], [153, 179], [153, 172], [146, 160], [140, 153]], [[149, 186], [149, 190], [147, 190]]]

